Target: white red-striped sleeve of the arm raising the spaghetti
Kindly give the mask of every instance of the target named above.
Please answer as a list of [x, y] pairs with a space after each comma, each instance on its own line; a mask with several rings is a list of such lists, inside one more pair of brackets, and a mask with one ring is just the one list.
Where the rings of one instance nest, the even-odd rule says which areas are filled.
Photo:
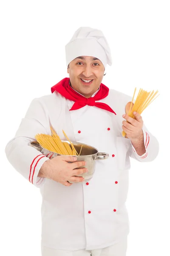
[[159, 153], [159, 142], [146, 128], [145, 125], [143, 125], [143, 134], [144, 134], [144, 146], [145, 146], [145, 153], [141, 156], [136, 153], [135, 148], [133, 147], [131, 141], [131, 153], [130, 157], [140, 161], [140, 162], [151, 162], [153, 161], [158, 153]]

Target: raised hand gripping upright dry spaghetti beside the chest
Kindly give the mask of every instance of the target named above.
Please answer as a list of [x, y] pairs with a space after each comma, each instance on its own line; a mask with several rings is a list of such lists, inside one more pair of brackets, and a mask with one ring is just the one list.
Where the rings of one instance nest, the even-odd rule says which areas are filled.
[[137, 112], [133, 112], [136, 119], [125, 114], [122, 117], [126, 119], [122, 122], [122, 129], [126, 133], [126, 138], [130, 140], [139, 140], [143, 137], [143, 120], [142, 116]]

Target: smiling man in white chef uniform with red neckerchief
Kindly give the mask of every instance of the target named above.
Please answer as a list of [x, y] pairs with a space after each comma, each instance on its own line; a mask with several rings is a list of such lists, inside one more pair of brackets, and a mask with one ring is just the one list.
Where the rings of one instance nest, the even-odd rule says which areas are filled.
[[[102, 84], [112, 60], [100, 30], [80, 27], [65, 50], [69, 78], [53, 86], [52, 94], [31, 102], [6, 155], [21, 175], [40, 188], [42, 256], [125, 256], [129, 157], [150, 162], [159, 143], [139, 113], [134, 113], [136, 119], [125, 115], [131, 98]], [[72, 156], [49, 159], [28, 145], [36, 134], [51, 134], [50, 126], [61, 140], [64, 130], [70, 140], [109, 154], [107, 160], [96, 161], [91, 180], [76, 177], [88, 171], [75, 169], [85, 162]]]

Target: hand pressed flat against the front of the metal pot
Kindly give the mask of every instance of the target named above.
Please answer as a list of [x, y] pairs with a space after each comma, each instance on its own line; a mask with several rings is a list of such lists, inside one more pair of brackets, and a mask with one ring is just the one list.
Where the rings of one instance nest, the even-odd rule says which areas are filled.
[[[49, 159], [41, 166], [38, 177], [46, 177], [48, 179], [57, 181], [65, 186], [71, 186], [72, 182], [82, 182], [83, 177], [75, 177], [76, 175], [88, 172], [88, 169], [75, 169], [80, 166], [85, 166], [84, 161], [77, 161], [77, 157], [72, 156], [57, 156]], [[74, 162], [74, 163], [68, 163]]]

